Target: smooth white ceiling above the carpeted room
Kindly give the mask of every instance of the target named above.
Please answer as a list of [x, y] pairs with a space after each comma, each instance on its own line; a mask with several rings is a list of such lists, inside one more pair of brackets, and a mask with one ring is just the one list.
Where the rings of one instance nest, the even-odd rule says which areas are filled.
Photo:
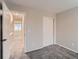
[[7, 0], [18, 5], [58, 13], [76, 7], [78, 0]]

